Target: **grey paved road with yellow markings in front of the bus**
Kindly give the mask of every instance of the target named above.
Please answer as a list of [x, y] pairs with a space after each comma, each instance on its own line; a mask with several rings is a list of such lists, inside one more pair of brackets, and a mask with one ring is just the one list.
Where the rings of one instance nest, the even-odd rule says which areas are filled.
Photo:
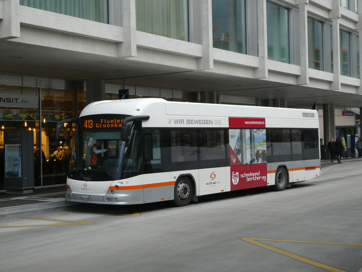
[[[1, 271], [359, 271], [362, 162], [282, 192], [0, 221]], [[45, 220], [46, 219], [46, 220]], [[46, 225], [46, 226], [44, 226]]]

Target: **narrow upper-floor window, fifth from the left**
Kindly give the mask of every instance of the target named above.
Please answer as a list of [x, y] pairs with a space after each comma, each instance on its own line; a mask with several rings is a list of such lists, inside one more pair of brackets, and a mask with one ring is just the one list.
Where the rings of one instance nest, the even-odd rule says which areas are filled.
[[308, 17], [308, 65], [324, 71], [323, 23]]

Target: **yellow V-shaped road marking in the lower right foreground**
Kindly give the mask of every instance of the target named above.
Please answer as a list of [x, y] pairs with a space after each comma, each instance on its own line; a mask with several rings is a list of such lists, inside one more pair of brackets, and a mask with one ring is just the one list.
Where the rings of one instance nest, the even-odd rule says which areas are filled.
[[294, 258], [296, 260], [303, 261], [304, 263], [308, 263], [308, 264], [311, 264], [311, 265], [314, 265], [314, 266], [317, 266], [317, 267], [320, 267], [320, 268], [323, 268], [323, 269], [327, 269], [327, 270], [333, 271], [333, 272], [345, 272], [345, 271], [343, 271], [341, 269], [338, 269], [338, 268], [335, 268], [335, 267], [331, 267], [331, 266], [326, 265], [326, 264], [318, 263], [316, 261], [304, 258], [302, 256], [299, 256], [299, 255], [296, 255], [296, 254], [287, 252], [285, 250], [281, 250], [279, 248], [272, 247], [272, 246], [269, 246], [267, 244], [263, 244], [263, 243], [257, 242], [257, 241], [276, 241], [276, 242], [294, 242], [294, 243], [336, 244], [336, 245], [345, 245], [345, 246], [362, 246], [362, 244], [313, 242], [313, 241], [298, 241], [298, 240], [275, 240], [275, 239], [256, 239], [256, 238], [241, 238], [241, 240], [244, 240], [246, 242], [255, 244], [256, 246], [264, 247], [264, 248], [266, 248], [268, 250], [271, 250], [271, 251], [277, 252], [279, 254]]

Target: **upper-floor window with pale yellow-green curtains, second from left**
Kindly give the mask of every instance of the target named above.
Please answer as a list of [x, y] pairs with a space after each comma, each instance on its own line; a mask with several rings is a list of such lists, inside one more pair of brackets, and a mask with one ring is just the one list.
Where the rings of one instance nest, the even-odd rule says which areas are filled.
[[187, 0], [136, 0], [136, 29], [189, 41]]

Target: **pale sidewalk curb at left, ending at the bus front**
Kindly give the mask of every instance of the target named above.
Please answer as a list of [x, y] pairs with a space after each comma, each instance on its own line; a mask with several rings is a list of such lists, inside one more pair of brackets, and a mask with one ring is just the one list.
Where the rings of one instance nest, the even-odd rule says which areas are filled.
[[51, 203], [38, 203], [38, 204], [30, 204], [24, 206], [1, 208], [0, 220], [14, 218], [14, 217], [35, 215], [35, 214], [52, 213], [55, 211], [64, 211], [68, 210], [70, 206], [75, 206], [79, 204], [80, 203], [59, 201]]

